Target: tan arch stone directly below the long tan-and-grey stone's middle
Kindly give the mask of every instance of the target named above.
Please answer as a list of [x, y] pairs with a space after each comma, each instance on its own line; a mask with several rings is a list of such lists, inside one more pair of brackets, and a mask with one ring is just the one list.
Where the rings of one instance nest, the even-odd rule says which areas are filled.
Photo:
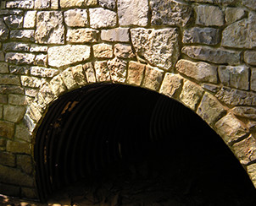
[[196, 111], [198, 104], [202, 98], [203, 89], [189, 80], [184, 81], [183, 89], [181, 91], [180, 99], [183, 104]]

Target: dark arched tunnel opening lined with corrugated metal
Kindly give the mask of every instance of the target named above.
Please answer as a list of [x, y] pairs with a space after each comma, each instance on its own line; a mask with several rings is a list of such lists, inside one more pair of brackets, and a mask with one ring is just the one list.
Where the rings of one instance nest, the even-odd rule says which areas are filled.
[[68, 193], [71, 202], [76, 194], [118, 205], [256, 203], [214, 130], [178, 101], [134, 86], [91, 84], [61, 95], [36, 132], [34, 156], [41, 202]]

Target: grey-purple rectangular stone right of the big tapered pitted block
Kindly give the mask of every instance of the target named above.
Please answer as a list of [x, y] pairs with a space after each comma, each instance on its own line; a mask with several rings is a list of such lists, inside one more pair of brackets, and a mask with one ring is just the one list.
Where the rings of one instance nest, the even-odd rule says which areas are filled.
[[185, 44], [216, 45], [220, 43], [220, 30], [214, 28], [193, 27], [184, 30], [182, 42]]

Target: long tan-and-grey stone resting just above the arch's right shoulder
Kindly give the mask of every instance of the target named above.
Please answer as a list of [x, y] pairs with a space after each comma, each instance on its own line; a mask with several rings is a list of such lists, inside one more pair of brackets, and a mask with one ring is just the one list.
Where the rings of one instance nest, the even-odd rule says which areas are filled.
[[217, 67], [206, 62], [191, 62], [181, 59], [176, 63], [178, 72], [187, 77], [196, 79], [199, 82], [209, 82], [217, 84]]

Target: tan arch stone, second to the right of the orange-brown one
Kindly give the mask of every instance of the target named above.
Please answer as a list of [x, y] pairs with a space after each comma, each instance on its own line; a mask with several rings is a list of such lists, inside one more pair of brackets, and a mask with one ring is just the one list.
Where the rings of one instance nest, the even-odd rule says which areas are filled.
[[179, 74], [165, 73], [160, 93], [173, 97], [177, 95], [182, 88], [183, 78]]

